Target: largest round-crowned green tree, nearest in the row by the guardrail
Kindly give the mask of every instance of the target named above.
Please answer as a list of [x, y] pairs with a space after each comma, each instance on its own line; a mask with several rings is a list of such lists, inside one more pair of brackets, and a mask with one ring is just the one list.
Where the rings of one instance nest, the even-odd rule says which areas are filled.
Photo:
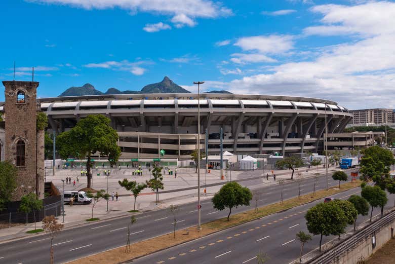
[[336, 203], [319, 203], [304, 216], [307, 230], [313, 235], [321, 235], [320, 251], [323, 236], [339, 235], [344, 233], [347, 226], [347, 217]]

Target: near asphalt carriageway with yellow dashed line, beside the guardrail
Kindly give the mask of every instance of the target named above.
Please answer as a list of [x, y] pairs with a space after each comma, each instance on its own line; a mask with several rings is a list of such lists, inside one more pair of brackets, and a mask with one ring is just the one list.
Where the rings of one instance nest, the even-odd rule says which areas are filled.
[[[352, 194], [360, 194], [360, 188], [334, 195], [337, 199], [348, 199]], [[386, 208], [393, 205], [394, 195], [389, 196]], [[179, 246], [169, 248], [151, 255], [131, 261], [135, 264], [203, 264], [203, 263], [257, 263], [256, 256], [266, 253], [270, 258], [266, 263], [288, 264], [300, 254], [300, 243], [295, 234], [307, 232], [304, 214], [311, 206], [323, 199], [310, 204], [295, 207], [282, 213], [276, 213], [254, 220], [237, 227], [193, 240]], [[379, 214], [380, 208], [373, 211]], [[368, 220], [369, 216], [359, 215], [357, 224]], [[348, 230], [353, 227], [348, 226]], [[307, 232], [308, 233], [308, 232]], [[323, 244], [333, 236], [324, 237]], [[314, 236], [304, 246], [304, 252], [318, 247], [320, 236]]]

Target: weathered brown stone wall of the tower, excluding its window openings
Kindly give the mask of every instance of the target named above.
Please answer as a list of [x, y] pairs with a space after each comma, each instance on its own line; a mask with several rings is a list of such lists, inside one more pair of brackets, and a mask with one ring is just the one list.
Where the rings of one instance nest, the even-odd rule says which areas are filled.
[[[18, 167], [17, 188], [13, 200], [36, 192], [36, 88], [37, 82], [3, 82], [5, 91], [5, 158], [16, 165], [16, 143], [22, 139], [25, 142], [25, 166]], [[18, 91], [25, 93], [24, 102], [17, 102]]]

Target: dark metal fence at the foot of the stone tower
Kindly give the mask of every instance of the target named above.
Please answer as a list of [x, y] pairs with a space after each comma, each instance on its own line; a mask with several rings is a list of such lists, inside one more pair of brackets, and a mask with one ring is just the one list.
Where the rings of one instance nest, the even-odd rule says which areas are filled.
[[[41, 221], [45, 216], [54, 215], [58, 217], [61, 215], [61, 205], [62, 201], [57, 201], [52, 204], [48, 204], [43, 206], [43, 209], [39, 211], [35, 211], [35, 218], [36, 221]], [[25, 222], [33, 222], [34, 221], [34, 214], [25, 213], [25, 212], [9, 212], [0, 214], [0, 222], [1, 223], [8, 223], [11, 225], [12, 223], [25, 223]]]

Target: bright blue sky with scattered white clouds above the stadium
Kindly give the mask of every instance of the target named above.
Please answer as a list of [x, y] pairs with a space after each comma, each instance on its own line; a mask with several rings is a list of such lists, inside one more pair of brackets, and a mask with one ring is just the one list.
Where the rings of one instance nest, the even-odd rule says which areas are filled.
[[[392, 1], [4, 0], [0, 79], [38, 96], [91, 83], [140, 90], [164, 76], [193, 91], [394, 107]], [[0, 95], [4, 100], [4, 95]]]

